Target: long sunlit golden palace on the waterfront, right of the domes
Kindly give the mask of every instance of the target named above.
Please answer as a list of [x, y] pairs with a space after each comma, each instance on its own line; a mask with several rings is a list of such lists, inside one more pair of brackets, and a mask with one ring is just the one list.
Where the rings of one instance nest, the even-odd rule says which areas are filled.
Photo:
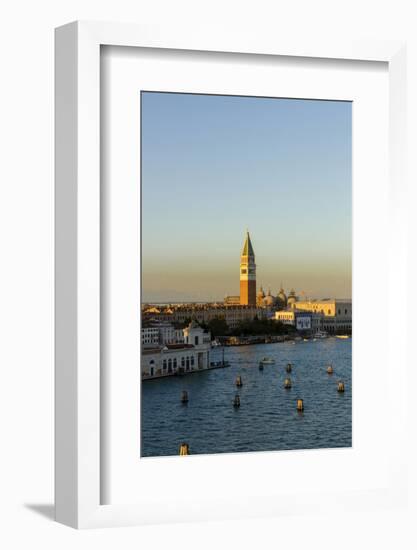
[[291, 305], [293, 309], [321, 314], [321, 329], [330, 334], [352, 332], [352, 300], [330, 299], [306, 300]]

